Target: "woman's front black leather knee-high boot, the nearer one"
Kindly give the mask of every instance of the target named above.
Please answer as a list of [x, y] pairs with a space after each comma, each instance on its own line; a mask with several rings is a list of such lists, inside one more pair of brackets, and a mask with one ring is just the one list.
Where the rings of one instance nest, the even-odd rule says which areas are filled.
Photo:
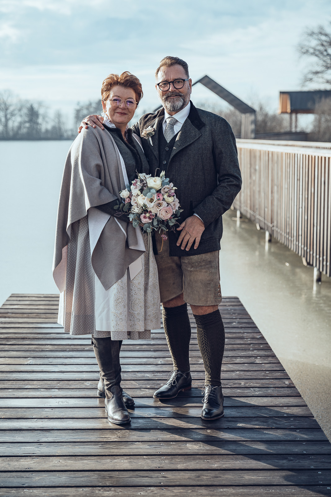
[[127, 423], [131, 418], [122, 395], [119, 341], [112, 340], [110, 336], [93, 336], [92, 345], [104, 385], [108, 420], [116, 424]]

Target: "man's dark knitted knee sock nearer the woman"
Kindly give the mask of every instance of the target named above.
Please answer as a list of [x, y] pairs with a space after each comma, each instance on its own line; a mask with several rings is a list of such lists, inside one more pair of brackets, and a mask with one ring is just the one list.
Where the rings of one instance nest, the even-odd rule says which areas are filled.
[[177, 307], [162, 306], [162, 319], [174, 369], [190, 371], [191, 325], [187, 304]]

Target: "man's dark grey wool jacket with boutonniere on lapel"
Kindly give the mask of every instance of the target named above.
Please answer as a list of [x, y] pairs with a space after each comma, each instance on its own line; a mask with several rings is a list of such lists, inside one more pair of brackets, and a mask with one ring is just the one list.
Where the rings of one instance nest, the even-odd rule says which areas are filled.
[[[141, 139], [152, 176], [164, 169], [158, 144], [163, 119], [162, 108], [156, 114], [144, 114], [132, 127], [138, 136], [148, 126], [155, 130], [152, 145], [149, 140]], [[167, 164], [167, 177], [178, 188], [176, 195], [183, 209], [180, 222], [196, 213], [205, 226], [199, 247], [195, 249], [193, 244], [188, 251], [176, 245], [180, 232], [170, 232], [170, 256], [219, 250], [222, 215], [231, 207], [242, 184], [236, 139], [229, 123], [212, 112], [197, 109], [191, 102], [189, 116], [177, 135]]]

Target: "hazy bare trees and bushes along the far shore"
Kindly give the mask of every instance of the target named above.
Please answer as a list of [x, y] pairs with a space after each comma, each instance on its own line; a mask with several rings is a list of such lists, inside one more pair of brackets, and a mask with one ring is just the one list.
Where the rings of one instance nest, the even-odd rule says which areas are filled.
[[[240, 136], [241, 114], [236, 109], [215, 105], [208, 101], [197, 102], [197, 106], [224, 117], [236, 136]], [[282, 133], [289, 131], [289, 117], [270, 112], [261, 102], [256, 109], [256, 133]], [[139, 109], [140, 110], [140, 109]], [[137, 111], [135, 117], [147, 110]], [[51, 114], [42, 102], [35, 103], [15, 97], [9, 90], [0, 92], [0, 140], [71, 140], [77, 135], [77, 127], [83, 117], [100, 114], [101, 100], [77, 103], [73, 112], [73, 126], [69, 127], [60, 110]], [[134, 119], [135, 120], [135, 119]], [[316, 114], [308, 139], [331, 142], [331, 100], [324, 100], [316, 108]]]

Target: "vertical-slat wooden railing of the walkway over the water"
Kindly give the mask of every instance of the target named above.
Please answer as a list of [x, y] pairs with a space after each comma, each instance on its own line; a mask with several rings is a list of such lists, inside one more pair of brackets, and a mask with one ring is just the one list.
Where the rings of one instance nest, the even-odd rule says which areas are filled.
[[331, 143], [237, 140], [233, 207], [331, 276]]

